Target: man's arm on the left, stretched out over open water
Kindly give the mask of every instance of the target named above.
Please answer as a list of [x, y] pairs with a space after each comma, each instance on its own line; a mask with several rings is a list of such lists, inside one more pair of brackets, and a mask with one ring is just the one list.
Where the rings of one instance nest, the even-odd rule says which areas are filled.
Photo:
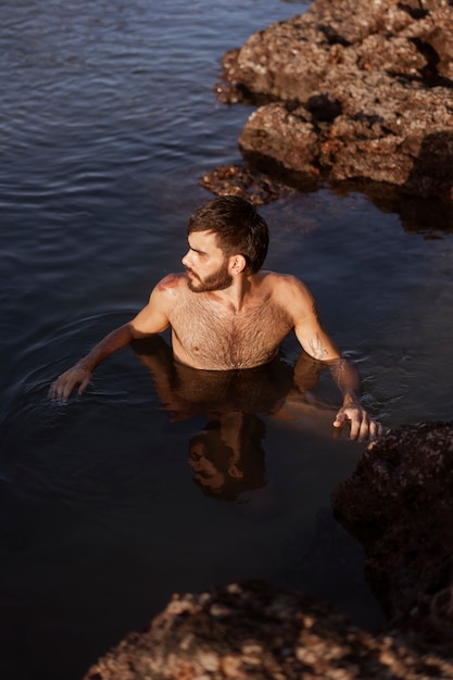
[[166, 277], [158, 284], [147, 306], [135, 318], [112, 330], [86, 356], [83, 356], [52, 382], [50, 387], [52, 399], [66, 401], [77, 386], [77, 392], [81, 394], [90, 381], [92, 372], [102, 360], [126, 347], [133, 340], [163, 332], [168, 327], [167, 307], [172, 295], [167, 294], [168, 289], [165, 285], [167, 279], [171, 277]]

